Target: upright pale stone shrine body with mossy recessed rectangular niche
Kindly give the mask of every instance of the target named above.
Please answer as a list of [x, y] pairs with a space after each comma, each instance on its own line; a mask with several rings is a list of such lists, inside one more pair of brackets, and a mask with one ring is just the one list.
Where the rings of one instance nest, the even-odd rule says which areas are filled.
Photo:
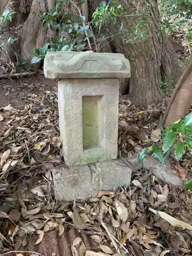
[[67, 165], [117, 158], [119, 80], [58, 82], [59, 130]]

